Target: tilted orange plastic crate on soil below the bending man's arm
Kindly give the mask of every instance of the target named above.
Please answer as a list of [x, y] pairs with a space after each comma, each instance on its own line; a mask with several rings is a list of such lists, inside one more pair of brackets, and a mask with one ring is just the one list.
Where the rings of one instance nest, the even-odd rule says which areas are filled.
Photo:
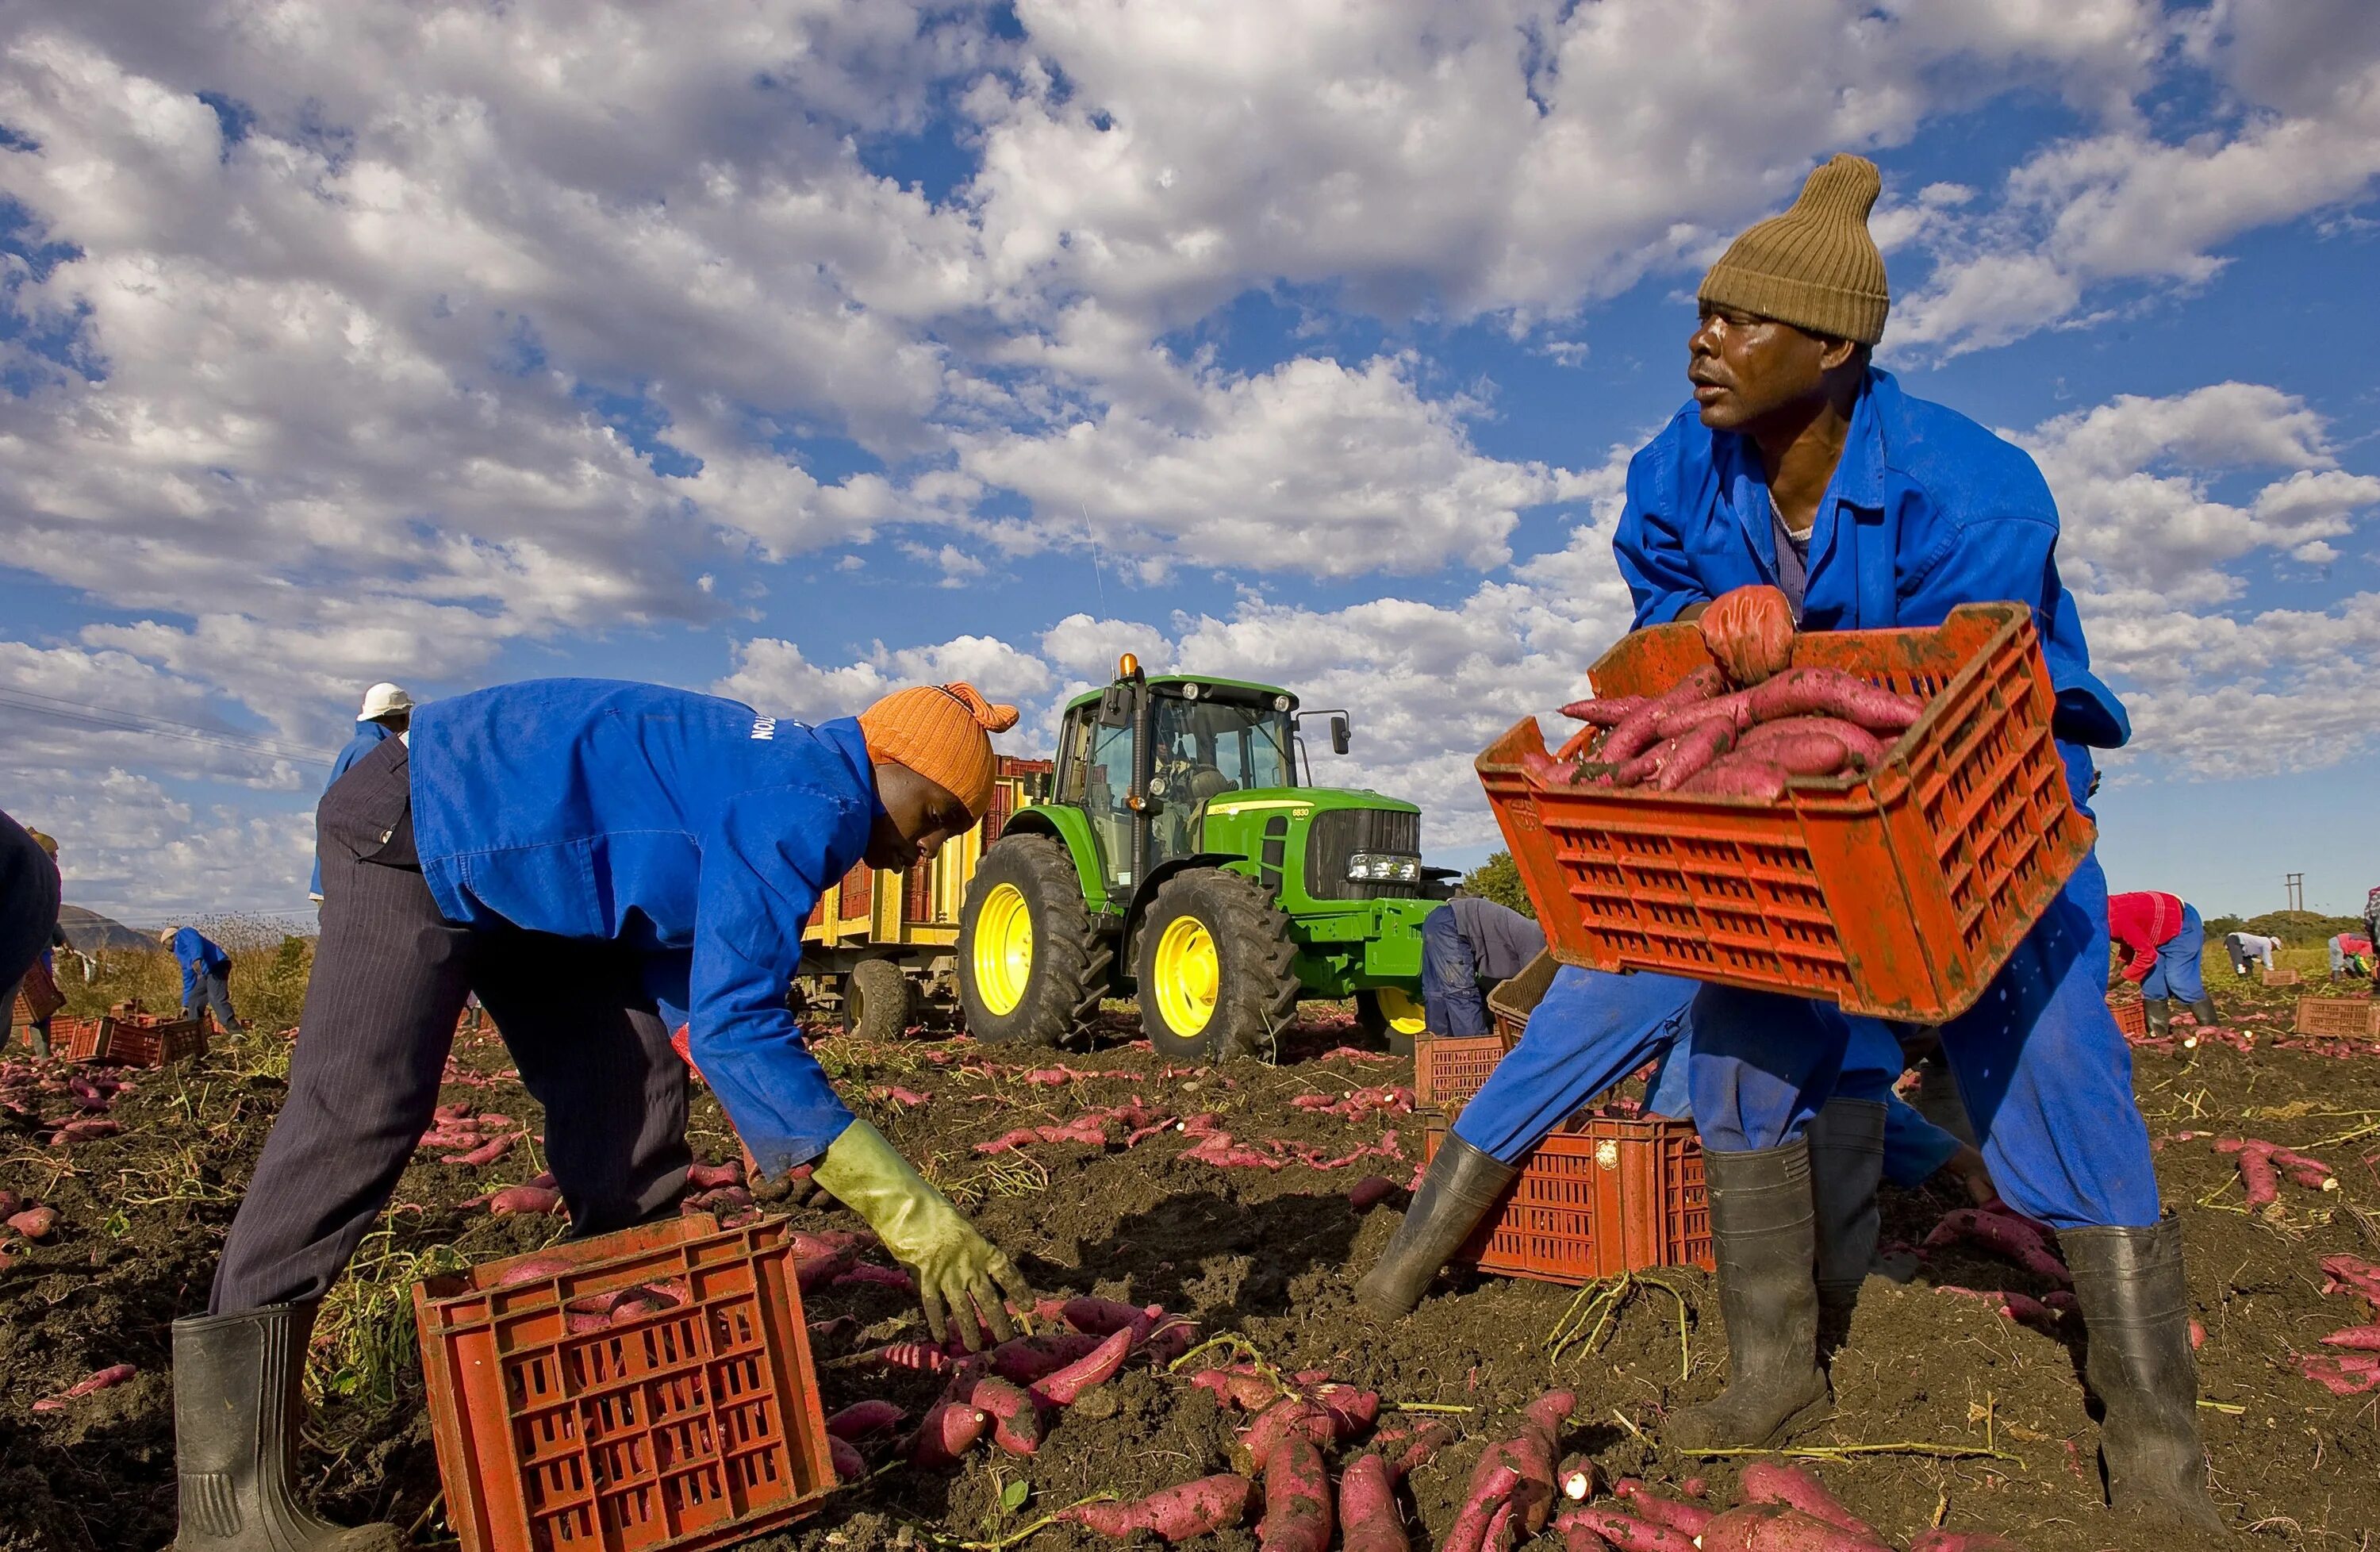
[[[790, 1228], [712, 1214], [414, 1288], [421, 1373], [464, 1552], [695, 1552], [804, 1514], [835, 1485]], [[571, 1300], [685, 1283], [676, 1309], [571, 1335]]]

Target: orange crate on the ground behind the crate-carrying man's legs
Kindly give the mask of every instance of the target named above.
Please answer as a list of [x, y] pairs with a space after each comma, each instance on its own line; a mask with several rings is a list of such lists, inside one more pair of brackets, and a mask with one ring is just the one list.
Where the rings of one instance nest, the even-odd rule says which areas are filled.
[[[1423, 1162], [1445, 1138], [1445, 1126], [1423, 1131]], [[1571, 1285], [1645, 1266], [1709, 1271], [1711, 1197], [1695, 1124], [1580, 1114], [1528, 1154], [1454, 1259]]]

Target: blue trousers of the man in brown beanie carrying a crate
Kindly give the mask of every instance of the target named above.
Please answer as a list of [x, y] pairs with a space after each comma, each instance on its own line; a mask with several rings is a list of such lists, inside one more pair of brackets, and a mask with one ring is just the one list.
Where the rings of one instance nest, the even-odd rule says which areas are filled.
[[[2080, 807], [2090, 757], [2061, 752]], [[1992, 1181], [2054, 1228], [2149, 1228], [2159, 1214], [2106, 964], [2106, 876], [2085, 857], [1975, 1007], [1942, 1026]], [[1802, 1135], [1835, 1093], [1854, 1024], [1828, 1005], [1723, 985], [1702, 988], [1692, 1019], [1695, 1119], [1718, 1152]]]

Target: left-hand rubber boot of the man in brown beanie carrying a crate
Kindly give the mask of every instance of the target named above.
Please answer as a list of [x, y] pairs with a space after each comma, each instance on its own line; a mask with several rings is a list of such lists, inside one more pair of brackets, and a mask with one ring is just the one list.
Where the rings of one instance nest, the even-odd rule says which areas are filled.
[[1728, 1319], [1728, 1388], [1668, 1419], [1680, 1450], [1766, 1450], [1825, 1414], [1809, 1140], [1702, 1154]]

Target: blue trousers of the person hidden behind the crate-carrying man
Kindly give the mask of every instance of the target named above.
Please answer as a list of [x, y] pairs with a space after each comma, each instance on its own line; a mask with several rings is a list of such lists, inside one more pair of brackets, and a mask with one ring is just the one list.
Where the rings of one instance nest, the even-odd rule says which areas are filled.
[[[1699, 983], [1678, 976], [1609, 976], [1578, 966], [1554, 971], [1554, 983], [1528, 1019], [1528, 1033], [1464, 1104], [1454, 1135], [1511, 1164], [1580, 1104], [1647, 1062], [1659, 1062], [1645, 1114], [1692, 1116], [1692, 1007]], [[1840, 1014], [1837, 1014], [1840, 1019]], [[1892, 1093], [1902, 1047], [1875, 1019], [1849, 1019], [1842, 1078], [1844, 1100], [1885, 1104], [1885, 1176], [1918, 1185], [1956, 1152], [1959, 1140]]]

